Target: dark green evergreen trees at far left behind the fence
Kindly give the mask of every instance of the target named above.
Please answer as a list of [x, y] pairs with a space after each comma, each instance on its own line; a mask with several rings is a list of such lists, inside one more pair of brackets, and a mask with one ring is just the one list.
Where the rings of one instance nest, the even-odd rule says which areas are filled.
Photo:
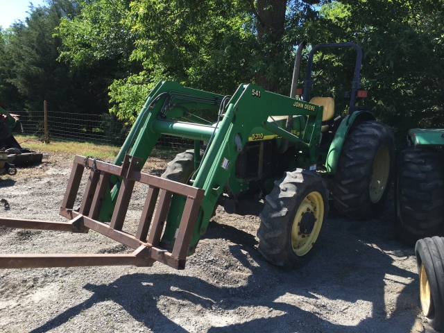
[[[11, 85], [19, 94], [14, 105], [42, 110], [46, 100], [50, 110], [108, 112], [112, 80], [95, 75], [89, 68], [74, 70], [69, 62], [59, 60], [62, 39], [56, 28], [62, 20], [75, 19], [79, 12], [75, 1], [49, 0], [46, 6], [31, 6], [25, 21], [8, 29], [0, 54], [0, 73], [2, 85]], [[9, 97], [3, 96], [7, 94], [4, 89], [0, 94], [0, 99]]]

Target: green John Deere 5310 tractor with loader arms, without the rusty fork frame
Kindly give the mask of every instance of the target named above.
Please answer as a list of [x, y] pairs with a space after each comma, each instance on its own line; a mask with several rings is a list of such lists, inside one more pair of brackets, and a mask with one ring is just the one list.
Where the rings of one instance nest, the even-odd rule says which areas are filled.
[[[314, 54], [327, 47], [357, 51], [346, 117], [334, 114], [331, 97], [310, 96]], [[300, 52], [296, 77], [299, 63]], [[194, 139], [194, 150], [178, 154], [162, 175], [205, 190], [189, 253], [205, 234], [217, 205], [223, 205], [228, 213], [259, 214], [259, 252], [265, 259], [279, 266], [300, 266], [314, 253], [325, 225], [326, 178], [333, 179], [336, 209], [352, 219], [375, 216], [391, 184], [393, 133], [368, 108], [355, 105], [361, 96], [360, 69], [357, 44], [320, 44], [309, 53], [302, 99], [293, 98], [294, 77], [291, 97], [252, 84], [222, 96], [160, 82], [146, 99], [114, 164], [122, 162], [130, 147], [130, 155], [146, 161], [164, 134]], [[191, 110], [196, 105], [214, 109], [217, 121], [194, 115]], [[117, 189], [106, 192], [103, 221], [112, 217]], [[173, 195], [161, 241], [164, 248], [173, 246], [183, 207], [184, 199]]]

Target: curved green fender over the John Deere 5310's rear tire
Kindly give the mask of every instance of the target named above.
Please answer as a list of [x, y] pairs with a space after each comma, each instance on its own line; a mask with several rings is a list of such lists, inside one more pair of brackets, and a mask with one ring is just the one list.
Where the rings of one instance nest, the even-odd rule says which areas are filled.
[[327, 154], [327, 161], [325, 162], [325, 167], [327, 167], [328, 173], [334, 175], [336, 173], [336, 167], [338, 166], [339, 155], [341, 155], [342, 146], [347, 137], [350, 128], [356, 123], [366, 120], [376, 120], [373, 113], [367, 110], [355, 111], [349, 114], [339, 125], [338, 130], [334, 134], [332, 144], [330, 144], [330, 149]]

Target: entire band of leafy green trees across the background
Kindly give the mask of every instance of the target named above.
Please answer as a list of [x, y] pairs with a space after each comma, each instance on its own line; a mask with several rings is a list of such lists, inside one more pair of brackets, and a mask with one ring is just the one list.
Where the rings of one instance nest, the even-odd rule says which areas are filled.
[[[63, 110], [78, 105], [82, 92], [83, 101], [101, 105], [96, 110], [110, 101], [112, 113], [133, 121], [159, 80], [221, 94], [253, 82], [289, 94], [302, 40], [309, 44], [300, 87], [311, 46], [356, 42], [364, 51], [362, 86], [370, 91], [359, 103], [400, 128], [444, 126], [443, 6], [437, 0], [52, 0], [1, 31], [0, 99], [8, 92], [38, 104], [56, 94], [52, 85], [58, 95], [51, 100]], [[332, 96], [346, 112], [343, 94], [354, 65], [353, 50], [318, 53], [313, 96]]]

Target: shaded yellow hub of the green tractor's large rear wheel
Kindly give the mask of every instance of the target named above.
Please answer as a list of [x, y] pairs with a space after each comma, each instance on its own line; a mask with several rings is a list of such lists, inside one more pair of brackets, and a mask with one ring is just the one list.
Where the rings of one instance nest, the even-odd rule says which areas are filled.
[[387, 187], [388, 173], [390, 172], [390, 153], [388, 148], [382, 146], [373, 160], [372, 176], [370, 177], [370, 200], [377, 203]]

